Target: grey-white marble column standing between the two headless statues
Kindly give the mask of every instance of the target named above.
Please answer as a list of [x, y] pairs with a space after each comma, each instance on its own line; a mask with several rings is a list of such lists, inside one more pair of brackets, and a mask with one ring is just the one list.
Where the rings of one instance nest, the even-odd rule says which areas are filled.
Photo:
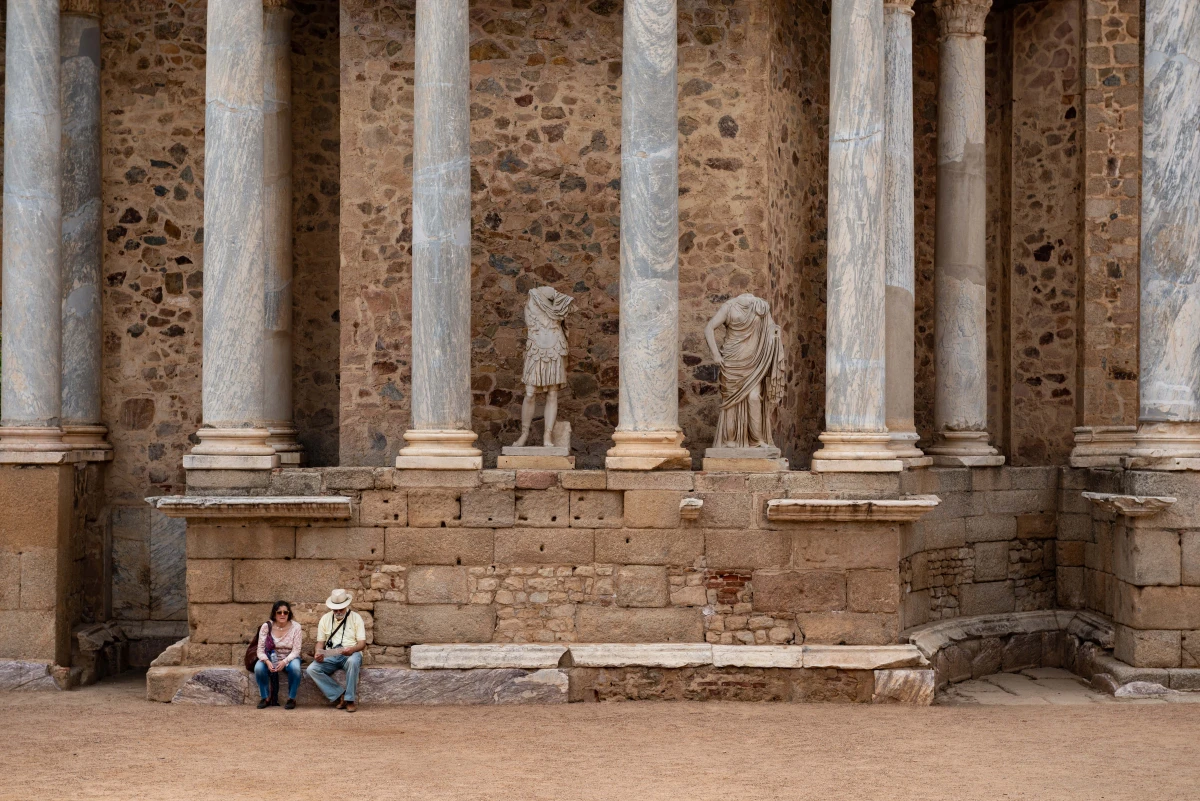
[[679, 429], [676, 0], [626, 0], [620, 146], [620, 406], [612, 470], [688, 469]]

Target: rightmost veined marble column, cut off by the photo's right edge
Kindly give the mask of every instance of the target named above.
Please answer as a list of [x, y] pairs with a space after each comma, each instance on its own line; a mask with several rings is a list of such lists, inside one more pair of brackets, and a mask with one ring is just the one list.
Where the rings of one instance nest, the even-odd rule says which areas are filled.
[[1200, 4], [1146, 0], [1139, 428], [1129, 466], [1200, 470]]

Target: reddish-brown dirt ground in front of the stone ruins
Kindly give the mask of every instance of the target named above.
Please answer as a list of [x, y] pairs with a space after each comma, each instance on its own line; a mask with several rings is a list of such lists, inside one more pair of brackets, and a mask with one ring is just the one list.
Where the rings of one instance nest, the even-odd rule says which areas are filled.
[[0, 799], [1196, 799], [1200, 705], [152, 704], [0, 695]]

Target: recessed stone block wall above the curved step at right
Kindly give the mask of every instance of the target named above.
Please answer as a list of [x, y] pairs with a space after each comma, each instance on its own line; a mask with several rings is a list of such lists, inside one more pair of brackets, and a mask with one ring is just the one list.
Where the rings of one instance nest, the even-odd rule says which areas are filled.
[[942, 499], [901, 547], [901, 626], [1052, 609], [1058, 469], [936, 469], [904, 492]]

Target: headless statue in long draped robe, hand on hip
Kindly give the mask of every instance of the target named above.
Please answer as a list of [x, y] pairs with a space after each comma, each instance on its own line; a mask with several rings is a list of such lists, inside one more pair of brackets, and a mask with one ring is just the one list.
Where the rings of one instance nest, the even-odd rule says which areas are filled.
[[[725, 341], [716, 345], [716, 330]], [[704, 329], [721, 368], [721, 414], [713, 447], [772, 447], [770, 412], [787, 377], [784, 342], [767, 301], [745, 294], [721, 306]]]

